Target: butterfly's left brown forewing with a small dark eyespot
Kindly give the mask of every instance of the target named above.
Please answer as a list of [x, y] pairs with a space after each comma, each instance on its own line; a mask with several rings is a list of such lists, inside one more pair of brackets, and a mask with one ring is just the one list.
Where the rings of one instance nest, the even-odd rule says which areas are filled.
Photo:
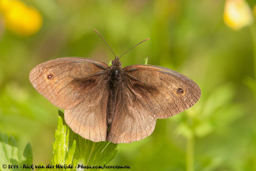
[[108, 65], [83, 57], [61, 57], [38, 64], [29, 80], [38, 93], [57, 107], [68, 109], [80, 103], [99, 84]]

